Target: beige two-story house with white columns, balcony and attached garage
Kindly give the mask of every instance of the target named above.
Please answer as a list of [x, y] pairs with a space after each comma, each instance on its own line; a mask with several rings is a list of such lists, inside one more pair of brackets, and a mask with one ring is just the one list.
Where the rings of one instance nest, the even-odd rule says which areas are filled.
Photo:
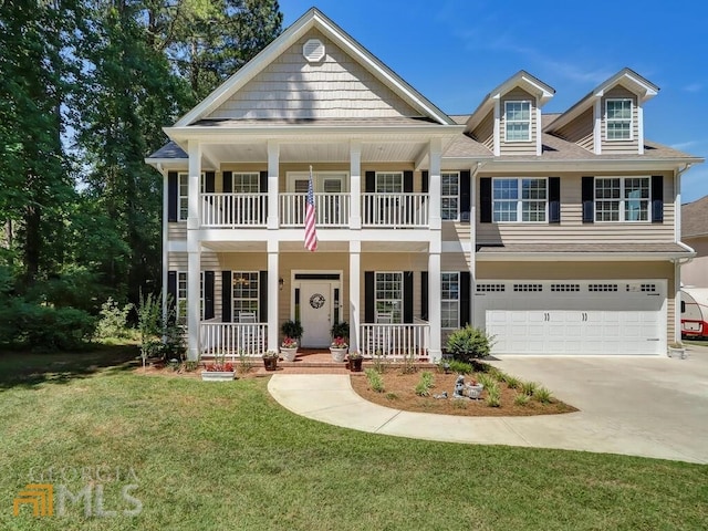
[[311, 9], [147, 159], [189, 356], [277, 348], [290, 319], [304, 347], [346, 320], [365, 355], [437, 360], [466, 323], [497, 353], [665, 353], [701, 159], [644, 138], [657, 92], [625, 69], [542, 114], [554, 90], [522, 71], [448, 116]]

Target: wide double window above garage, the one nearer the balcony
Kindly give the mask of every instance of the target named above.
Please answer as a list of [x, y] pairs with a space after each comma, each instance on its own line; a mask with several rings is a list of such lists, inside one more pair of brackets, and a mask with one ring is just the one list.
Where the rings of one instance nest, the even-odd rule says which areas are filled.
[[548, 179], [541, 177], [492, 179], [494, 222], [544, 222], [548, 219]]

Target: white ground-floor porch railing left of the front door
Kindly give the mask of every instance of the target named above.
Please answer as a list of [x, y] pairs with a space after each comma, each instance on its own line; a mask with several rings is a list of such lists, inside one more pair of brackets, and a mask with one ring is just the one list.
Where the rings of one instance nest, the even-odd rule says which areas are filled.
[[238, 361], [239, 356], [261, 356], [268, 350], [267, 323], [201, 323], [200, 344], [202, 356], [226, 356]]

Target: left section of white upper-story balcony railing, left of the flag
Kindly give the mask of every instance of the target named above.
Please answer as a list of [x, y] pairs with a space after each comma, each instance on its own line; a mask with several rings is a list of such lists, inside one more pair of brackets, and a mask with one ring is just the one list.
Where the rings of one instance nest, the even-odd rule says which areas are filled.
[[266, 227], [264, 194], [201, 194], [202, 227]]

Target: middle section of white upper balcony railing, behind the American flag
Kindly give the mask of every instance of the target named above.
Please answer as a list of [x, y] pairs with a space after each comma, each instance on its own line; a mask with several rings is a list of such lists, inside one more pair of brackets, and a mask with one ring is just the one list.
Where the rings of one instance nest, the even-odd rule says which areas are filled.
[[[304, 227], [306, 207], [306, 194], [280, 194], [280, 226]], [[319, 227], [350, 225], [348, 194], [315, 194], [314, 208]]]

